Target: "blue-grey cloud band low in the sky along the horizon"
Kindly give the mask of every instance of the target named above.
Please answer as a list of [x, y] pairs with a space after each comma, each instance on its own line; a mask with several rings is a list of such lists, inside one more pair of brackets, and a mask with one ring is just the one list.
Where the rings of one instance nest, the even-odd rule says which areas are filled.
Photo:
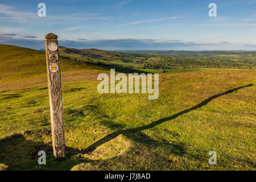
[[[13, 38], [0, 35], [0, 44], [27, 47], [32, 49], [44, 48], [44, 40], [34, 39], [34, 36]], [[16, 34], [15, 34], [16, 35]], [[30, 38], [30, 39], [28, 39]], [[212, 50], [248, 50], [255, 51], [255, 44], [248, 43], [195, 43], [182, 40], [158, 40], [158, 39], [101, 39], [101, 40], [59, 40], [59, 46], [86, 49], [97, 48], [104, 50], [183, 50], [183, 51], [212, 51]]]

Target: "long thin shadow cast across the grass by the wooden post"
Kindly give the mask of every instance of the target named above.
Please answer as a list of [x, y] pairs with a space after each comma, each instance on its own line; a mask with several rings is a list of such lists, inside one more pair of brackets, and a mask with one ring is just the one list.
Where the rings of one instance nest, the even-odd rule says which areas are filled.
[[101, 146], [101, 144], [109, 142], [110, 140], [114, 139], [115, 137], [117, 137], [120, 134], [127, 135], [127, 134], [132, 134], [132, 133], [138, 133], [139, 131], [142, 131], [142, 130], [151, 129], [152, 127], [155, 127], [155, 126], [160, 125], [160, 124], [162, 124], [164, 122], [167, 122], [167, 121], [170, 121], [172, 119], [175, 119], [175, 118], [179, 117], [180, 115], [189, 113], [192, 110], [199, 109], [200, 107], [203, 107], [204, 105], [207, 105], [214, 98], [217, 98], [217, 97], [220, 97], [220, 96], [224, 96], [224, 95], [232, 93], [232, 92], [234, 92], [236, 90], [240, 90], [242, 88], [246, 88], [246, 87], [250, 87], [250, 86], [253, 86], [253, 84], [249, 84], [249, 85], [245, 85], [245, 86], [240, 86], [238, 88], [228, 90], [228, 91], [226, 91], [224, 93], [216, 94], [216, 95], [214, 95], [212, 97], [207, 98], [203, 102], [200, 102], [200, 104], [197, 104], [197, 105], [195, 105], [195, 106], [193, 106], [193, 107], [191, 107], [189, 109], [185, 109], [183, 111], [180, 111], [179, 113], [171, 115], [170, 117], [159, 119], [158, 121], [152, 122], [152, 123], [150, 123], [149, 125], [146, 125], [146, 126], [137, 127], [137, 128], [134, 128], [134, 129], [115, 131], [114, 133], [106, 135], [106, 137], [104, 137], [104, 138], [98, 140], [97, 142], [93, 143], [91, 146], [89, 146], [88, 148], [86, 148], [85, 150], [83, 150], [81, 152], [85, 153], [85, 154], [88, 153], [88, 152], [92, 152], [98, 146]]

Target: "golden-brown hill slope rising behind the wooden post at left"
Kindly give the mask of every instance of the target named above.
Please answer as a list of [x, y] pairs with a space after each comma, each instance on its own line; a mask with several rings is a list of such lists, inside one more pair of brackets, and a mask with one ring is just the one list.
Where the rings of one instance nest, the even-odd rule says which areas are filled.
[[[80, 63], [67, 57], [60, 57], [60, 64], [64, 80], [71, 75], [71, 72], [89, 72], [104, 69], [96, 65]], [[79, 77], [81, 75], [76, 78]], [[72, 80], [72, 78], [69, 79]], [[0, 45], [0, 91], [39, 86], [45, 84], [46, 81], [45, 52]]]

